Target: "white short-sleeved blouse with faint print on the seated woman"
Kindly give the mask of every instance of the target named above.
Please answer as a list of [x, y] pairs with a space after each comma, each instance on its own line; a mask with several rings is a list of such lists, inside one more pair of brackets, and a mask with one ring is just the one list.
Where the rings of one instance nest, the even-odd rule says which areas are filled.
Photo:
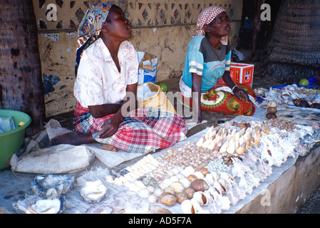
[[129, 41], [121, 43], [118, 59], [120, 72], [101, 38], [83, 51], [74, 95], [84, 108], [120, 103], [127, 85], [138, 83], [138, 53]]

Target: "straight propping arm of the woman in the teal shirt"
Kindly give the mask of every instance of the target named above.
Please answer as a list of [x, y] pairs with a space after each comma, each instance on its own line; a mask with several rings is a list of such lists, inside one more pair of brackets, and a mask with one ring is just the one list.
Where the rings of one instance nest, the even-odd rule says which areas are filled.
[[[197, 123], [202, 122], [200, 105], [202, 76], [192, 73], [192, 110], [197, 115]], [[195, 92], [195, 93], [194, 93]]]

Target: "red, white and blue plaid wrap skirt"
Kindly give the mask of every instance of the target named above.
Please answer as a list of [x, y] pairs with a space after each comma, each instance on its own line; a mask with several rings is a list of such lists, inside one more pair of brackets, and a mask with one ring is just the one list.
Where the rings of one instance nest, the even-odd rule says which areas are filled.
[[175, 113], [158, 108], [138, 108], [131, 111], [120, 123], [118, 132], [109, 138], [98, 138], [101, 125], [111, 118], [93, 118], [88, 108], [77, 102], [74, 125], [76, 131], [92, 134], [100, 143], [113, 145], [127, 152], [145, 153], [158, 148], [167, 148], [185, 140], [185, 120]]

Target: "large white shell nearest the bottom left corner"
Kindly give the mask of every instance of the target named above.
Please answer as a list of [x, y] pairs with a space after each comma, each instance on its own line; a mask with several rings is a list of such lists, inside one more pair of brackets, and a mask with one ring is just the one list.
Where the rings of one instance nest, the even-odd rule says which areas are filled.
[[65, 209], [65, 198], [39, 199], [26, 209], [26, 214], [61, 214]]

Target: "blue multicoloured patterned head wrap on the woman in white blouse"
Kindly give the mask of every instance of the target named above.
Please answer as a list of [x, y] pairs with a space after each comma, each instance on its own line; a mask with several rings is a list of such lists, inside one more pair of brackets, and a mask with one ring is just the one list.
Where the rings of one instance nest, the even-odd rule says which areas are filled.
[[113, 4], [95, 4], [91, 6], [86, 15], [83, 17], [81, 24], [78, 26], [78, 45], [76, 56], [76, 76], [78, 64], [80, 62], [83, 51], [92, 43], [98, 40], [103, 23], [108, 17], [109, 11]]

